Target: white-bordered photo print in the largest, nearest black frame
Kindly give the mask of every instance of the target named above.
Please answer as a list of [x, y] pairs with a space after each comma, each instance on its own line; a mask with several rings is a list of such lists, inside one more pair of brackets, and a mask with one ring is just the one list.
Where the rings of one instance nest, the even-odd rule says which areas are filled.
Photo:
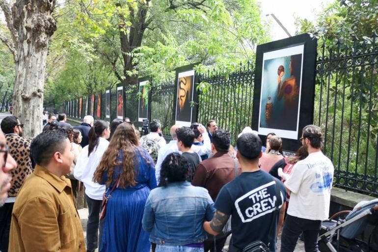
[[297, 139], [304, 45], [264, 53], [258, 132]]

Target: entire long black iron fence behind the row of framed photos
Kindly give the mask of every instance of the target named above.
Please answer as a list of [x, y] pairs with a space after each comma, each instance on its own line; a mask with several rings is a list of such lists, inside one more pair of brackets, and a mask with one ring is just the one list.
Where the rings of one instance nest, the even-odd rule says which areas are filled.
[[[324, 153], [335, 166], [334, 185], [378, 196], [377, 35], [320, 45], [318, 56], [314, 123], [323, 129]], [[201, 74], [198, 80], [198, 121], [205, 124], [215, 119], [219, 128], [231, 133], [235, 144], [237, 135], [252, 120], [253, 65], [248, 62], [228, 75]], [[175, 92], [174, 81], [152, 82], [150, 89], [150, 117], [160, 119], [166, 140], [170, 140], [169, 129], [174, 124]], [[116, 88], [110, 94], [112, 120], [117, 113]], [[138, 119], [138, 95], [136, 87], [125, 89], [124, 116], [132, 121]], [[75, 101], [63, 106], [70, 108], [69, 116], [75, 114], [77, 106], [73, 105]], [[102, 105], [104, 119], [105, 93]]]

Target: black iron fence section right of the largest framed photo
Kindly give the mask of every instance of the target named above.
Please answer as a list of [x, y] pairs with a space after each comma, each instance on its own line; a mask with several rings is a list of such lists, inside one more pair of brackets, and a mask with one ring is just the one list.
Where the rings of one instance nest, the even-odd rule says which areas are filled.
[[335, 185], [378, 195], [377, 35], [320, 47], [314, 122], [335, 166]]

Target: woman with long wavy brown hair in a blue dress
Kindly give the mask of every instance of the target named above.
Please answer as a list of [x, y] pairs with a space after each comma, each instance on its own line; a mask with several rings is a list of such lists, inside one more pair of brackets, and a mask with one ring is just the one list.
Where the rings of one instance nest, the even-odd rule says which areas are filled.
[[156, 187], [154, 162], [139, 146], [132, 125], [118, 125], [93, 180], [107, 187], [107, 202], [100, 252], [149, 252], [149, 233], [142, 229], [147, 197]]

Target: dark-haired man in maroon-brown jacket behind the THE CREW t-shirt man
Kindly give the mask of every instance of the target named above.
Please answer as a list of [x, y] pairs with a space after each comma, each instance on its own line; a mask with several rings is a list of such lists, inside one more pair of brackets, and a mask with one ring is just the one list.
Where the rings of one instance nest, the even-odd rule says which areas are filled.
[[[213, 142], [211, 144], [214, 156], [210, 159], [202, 161], [196, 168], [194, 173], [193, 186], [201, 186], [209, 191], [209, 195], [215, 201], [220, 189], [234, 179], [235, 169], [238, 161], [234, 160], [229, 154], [231, 136], [228, 131], [217, 130], [213, 134]], [[227, 236], [217, 237], [216, 252], [221, 252]], [[204, 242], [204, 251], [211, 251], [214, 247], [214, 237], [209, 237]]]

